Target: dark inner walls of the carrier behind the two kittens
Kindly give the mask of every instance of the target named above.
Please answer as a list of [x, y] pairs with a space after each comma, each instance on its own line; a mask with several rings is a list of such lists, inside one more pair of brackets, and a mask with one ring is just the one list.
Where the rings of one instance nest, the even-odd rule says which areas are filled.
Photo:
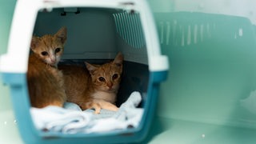
[[146, 100], [149, 70], [146, 42], [137, 11], [110, 8], [68, 7], [40, 10], [34, 35], [54, 34], [66, 26], [67, 40], [62, 64], [84, 65], [84, 62], [110, 62], [121, 52], [124, 55], [122, 82], [118, 91], [120, 106], [133, 91]]

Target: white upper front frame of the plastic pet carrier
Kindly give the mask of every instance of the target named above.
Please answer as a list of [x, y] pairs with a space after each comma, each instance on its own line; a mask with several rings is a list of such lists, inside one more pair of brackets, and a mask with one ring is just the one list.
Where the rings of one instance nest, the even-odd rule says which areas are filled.
[[11, 26], [8, 50], [0, 58], [0, 71], [14, 74], [26, 73], [30, 54], [30, 39], [39, 10], [78, 6], [138, 11], [145, 35], [150, 71], [168, 70], [167, 58], [160, 54], [154, 18], [144, 0], [18, 0]]

